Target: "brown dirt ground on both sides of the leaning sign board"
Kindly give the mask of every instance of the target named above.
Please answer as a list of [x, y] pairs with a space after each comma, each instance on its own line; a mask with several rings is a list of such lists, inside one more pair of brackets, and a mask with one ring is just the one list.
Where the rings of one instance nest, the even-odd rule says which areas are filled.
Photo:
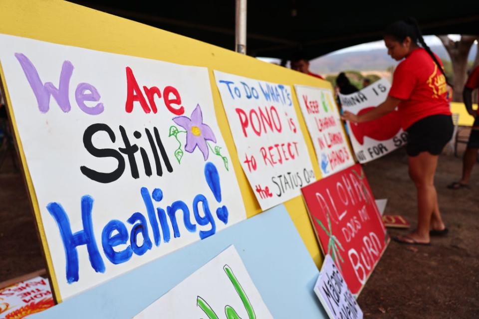
[[[443, 155], [436, 175], [449, 235], [427, 247], [392, 241], [358, 299], [365, 318], [479, 318], [479, 163], [471, 190], [447, 189], [461, 167], [461, 159]], [[364, 169], [375, 197], [388, 198], [385, 213], [403, 215], [414, 228], [416, 193], [405, 150]], [[0, 168], [0, 282], [45, 268], [29, 207], [22, 177], [7, 158]]]

